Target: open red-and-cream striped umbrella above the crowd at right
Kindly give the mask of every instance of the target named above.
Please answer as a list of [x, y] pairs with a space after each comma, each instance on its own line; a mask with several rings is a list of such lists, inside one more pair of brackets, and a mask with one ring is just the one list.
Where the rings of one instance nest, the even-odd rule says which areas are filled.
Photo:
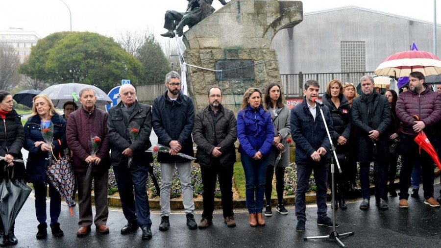
[[411, 72], [421, 72], [425, 76], [441, 74], [441, 61], [433, 53], [427, 51], [402, 51], [386, 58], [375, 69], [380, 76], [409, 76]]

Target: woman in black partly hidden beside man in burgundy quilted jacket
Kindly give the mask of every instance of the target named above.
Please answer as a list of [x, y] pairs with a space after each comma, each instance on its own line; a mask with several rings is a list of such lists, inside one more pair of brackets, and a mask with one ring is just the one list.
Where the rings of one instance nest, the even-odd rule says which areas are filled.
[[[384, 94], [389, 101], [389, 106], [391, 107], [391, 124], [386, 131], [386, 134], [389, 135], [389, 194], [392, 197], [396, 197], [397, 194], [395, 189], [393, 188], [393, 182], [396, 177], [396, 165], [398, 161], [398, 129], [400, 128], [400, 120], [396, 118], [395, 105], [398, 100], [398, 95], [393, 90], [387, 90]], [[387, 194], [387, 191], [384, 192]], [[383, 196], [387, 198], [387, 196]]]

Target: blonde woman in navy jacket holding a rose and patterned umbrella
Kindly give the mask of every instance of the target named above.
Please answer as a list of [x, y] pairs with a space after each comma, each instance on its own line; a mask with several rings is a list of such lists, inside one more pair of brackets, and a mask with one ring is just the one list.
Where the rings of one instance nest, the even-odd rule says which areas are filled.
[[[37, 239], [47, 236], [48, 225], [46, 223], [46, 195], [49, 184], [50, 198], [50, 228], [55, 237], [64, 235], [58, 223], [61, 212], [61, 196], [58, 191], [48, 183], [46, 167], [48, 166], [49, 152], [58, 159], [64, 155], [66, 145], [66, 121], [62, 118], [52, 101], [47, 95], [38, 95], [33, 99], [32, 114], [25, 123], [25, 149], [29, 151], [26, 172], [28, 181], [34, 186], [35, 212], [40, 223], [37, 228]], [[42, 129], [53, 127], [52, 144], [47, 144], [42, 135]], [[52, 158], [54, 159], [54, 158]]]

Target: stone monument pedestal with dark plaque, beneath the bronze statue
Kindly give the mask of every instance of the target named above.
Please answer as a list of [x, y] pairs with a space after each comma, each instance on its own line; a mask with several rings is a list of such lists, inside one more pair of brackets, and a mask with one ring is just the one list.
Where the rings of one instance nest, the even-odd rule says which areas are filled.
[[275, 50], [270, 49], [280, 29], [303, 20], [301, 1], [231, 0], [184, 33], [189, 94], [196, 109], [208, 105], [207, 91], [213, 85], [223, 90], [222, 105], [240, 108], [249, 87], [264, 90], [270, 82], [280, 83]]

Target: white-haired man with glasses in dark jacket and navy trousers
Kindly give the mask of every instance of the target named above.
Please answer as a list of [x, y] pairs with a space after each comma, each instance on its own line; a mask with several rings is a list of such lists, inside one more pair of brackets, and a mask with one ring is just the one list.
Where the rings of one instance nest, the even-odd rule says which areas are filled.
[[[107, 127], [111, 165], [127, 220], [121, 233], [131, 233], [141, 227], [142, 239], [149, 240], [151, 220], [146, 183], [153, 157], [145, 150], [151, 146], [151, 107], [136, 100], [136, 90], [131, 84], [120, 87], [120, 99], [118, 105], [109, 109]], [[133, 134], [137, 136], [134, 140]]]

